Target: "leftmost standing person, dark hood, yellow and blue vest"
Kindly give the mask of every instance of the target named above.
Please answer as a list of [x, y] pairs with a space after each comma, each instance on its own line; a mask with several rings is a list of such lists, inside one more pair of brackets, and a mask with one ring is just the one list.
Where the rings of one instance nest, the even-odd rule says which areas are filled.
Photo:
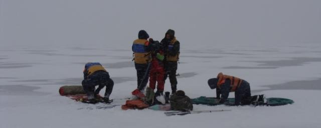
[[143, 97], [142, 90], [147, 85], [148, 81], [148, 62], [150, 60], [149, 53], [149, 35], [145, 30], [139, 30], [138, 39], [134, 40], [132, 44], [132, 51], [134, 52], [135, 68], [137, 71], [137, 89], [132, 94], [138, 97]]

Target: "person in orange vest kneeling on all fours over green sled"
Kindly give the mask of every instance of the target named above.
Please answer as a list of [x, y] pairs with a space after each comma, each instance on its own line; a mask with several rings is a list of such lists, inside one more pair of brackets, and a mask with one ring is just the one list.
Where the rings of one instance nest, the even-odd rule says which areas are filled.
[[235, 91], [235, 105], [250, 104], [250, 83], [241, 78], [220, 72], [216, 78], [210, 78], [208, 84], [211, 89], [216, 88], [216, 98], [220, 103], [224, 103], [229, 93]]

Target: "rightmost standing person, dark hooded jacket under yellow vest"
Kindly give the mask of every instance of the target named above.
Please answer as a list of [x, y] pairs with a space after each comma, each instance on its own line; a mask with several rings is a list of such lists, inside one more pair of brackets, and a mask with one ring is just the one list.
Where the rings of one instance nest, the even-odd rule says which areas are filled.
[[176, 78], [176, 70], [177, 70], [177, 61], [179, 60], [180, 54], [180, 42], [175, 37], [175, 31], [169, 29], [165, 37], [161, 41], [163, 51], [165, 52], [164, 59], [164, 67], [165, 67], [165, 77], [170, 77], [172, 94], [177, 90], [177, 78]]

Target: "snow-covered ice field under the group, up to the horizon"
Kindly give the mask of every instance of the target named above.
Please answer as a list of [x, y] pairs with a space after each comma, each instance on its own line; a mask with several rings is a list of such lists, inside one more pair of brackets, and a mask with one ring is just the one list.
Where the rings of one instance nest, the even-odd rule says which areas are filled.
[[[125, 100], [117, 98], [129, 97], [136, 86], [131, 52], [126, 49], [2, 49], [1, 127], [315, 127], [320, 124], [321, 119], [321, 112], [318, 110], [321, 89], [320, 46], [256, 46], [255, 49], [249, 46], [206, 47], [194, 49], [195, 51], [183, 48], [178, 69], [181, 74], [178, 76], [178, 88], [185, 90], [192, 98], [214, 96], [214, 90], [208, 87], [207, 79], [216, 77], [222, 71], [249, 81], [252, 94], [264, 93], [267, 97], [290, 98], [295, 103], [275, 107], [194, 105], [195, 110], [232, 111], [170, 117], [163, 111], [121, 110], [120, 106], [110, 109], [79, 109], [95, 105], [76, 102], [59, 95], [58, 89], [62, 85], [80, 85], [85, 62], [100, 61], [115, 81], [111, 94], [111, 98], [115, 98], [113, 103], [123, 104]], [[304, 61], [299, 61], [301, 59]], [[283, 61], [291, 63], [283, 65]], [[240, 67], [226, 68], [235, 65]], [[298, 85], [294, 83], [300, 83], [298, 80], [306, 82], [297, 88]], [[288, 82], [292, 82], [293, 87]], [[284, 88], [283, 85], [287, 87]], [[168, 80], [165, 89], [170, 91]], [[104, 89], [101, 91], [103, 93]], [[230, 96], [233, 97], [234, 93]]]

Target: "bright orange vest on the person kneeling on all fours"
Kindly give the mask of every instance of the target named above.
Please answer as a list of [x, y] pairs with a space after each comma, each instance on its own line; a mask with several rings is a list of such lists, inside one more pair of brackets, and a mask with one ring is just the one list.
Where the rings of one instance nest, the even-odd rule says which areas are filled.
[[241, 78], [238, 78], [238, 77], [234, 77], [234, 76], [231, 76], [231, 75], [226, 75], [226, 74], [223, 74], [222, 72], [220, 72], [218, 75], [217, 75], [217, 87], [218, 88], [221, 88], [221, 85], [223, 83], [225, 83], [225, 80], [226, 79], [230, 79], [231, 80], [231, 91], [230, 92], [233, 92], [236, 90], [237, 87], [239, 87], [241, 85], [241, 82], [243, 81], [243, 79]]

